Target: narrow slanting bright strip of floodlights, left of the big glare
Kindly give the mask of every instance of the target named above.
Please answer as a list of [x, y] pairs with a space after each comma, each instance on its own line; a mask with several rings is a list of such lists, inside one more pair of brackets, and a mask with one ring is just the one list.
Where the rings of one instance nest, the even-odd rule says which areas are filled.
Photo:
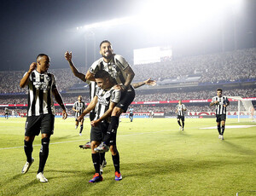
[[119, 26], [119, 25], [131, 23], [134, 20], [135, 20], [134, 17], [125, 17], [125, 18], [118, 18], [118, 19], [107, 20], [107, 21], [102, 21], [102, 22], [96, 22], [96, 23], [92, 23], [90, 25], [77, 27], [77, 31], [79, 31], [79, 30], [87, 31], [87, 30], [92, 30], [92, 29], [96, 29], [96, 28]]

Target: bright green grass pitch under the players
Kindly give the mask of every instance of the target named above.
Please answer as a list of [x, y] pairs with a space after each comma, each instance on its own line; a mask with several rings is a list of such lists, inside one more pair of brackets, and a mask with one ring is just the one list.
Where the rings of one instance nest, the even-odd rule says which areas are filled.
[[[40, 136], [34, 141], [35, 162], [21, 175], [26, 163], [23, 151], [26, 118], [0, 118], [0, 195], [255, 195], [256, 127], [230, 128], [224, 141], [212, 127], [215, 118], [186, 118], [178, 130], [175, 118], [122, 118], [117, 145], [123, 180], [114, 181], [111, 154], [103, 181], [90, 184], [94, 175], [86, 118], [83, 135], [74, 129], [74, 118], [55, 118], [55, 134], [49, 145], [44, 176], [36, 180]], [[227, 119], [227, 125], [256, 125]], [[247, 192], [246, 192], [247, 191]]]

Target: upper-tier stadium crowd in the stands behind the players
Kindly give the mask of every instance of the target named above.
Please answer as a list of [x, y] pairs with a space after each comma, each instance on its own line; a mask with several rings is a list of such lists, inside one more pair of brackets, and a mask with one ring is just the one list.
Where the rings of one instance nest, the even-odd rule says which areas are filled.
[[[256, 80], [256, 49], [242, 49], [231, 52], [199, 55], [173, 59], [147, 65], [132, 66], [135, 74], [134, 81], [143, 81], [152, 77], [157, 82], [165, 79], [181, 79], [197, 77], [199, 84], [235, 82]], [[78, 67], [79, 72], [86, 72], [84, 67]], [[80, 84], [73, 76], [70, 68], [50, 69], [55, 74], [56, 84], [60, 91], [67, 91], [74, 84]], [[0, 72], [0, 94], [25, 93], [20, 89], [19, 81], [25, 71]], [[184, 80], [185, 81], [185, 80]]]

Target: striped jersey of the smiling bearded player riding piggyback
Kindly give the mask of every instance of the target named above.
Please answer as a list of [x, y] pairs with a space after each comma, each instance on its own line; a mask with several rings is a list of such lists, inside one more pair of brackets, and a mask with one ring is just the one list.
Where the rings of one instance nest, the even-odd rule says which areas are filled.
[[[125, 73], [125, 69], [130, 67], [125, 58], [121, 55], [113, 55], [113, 58], [110, 62], [103, 61], [103, 58], [95, 61], [89, 69], [89, 72], [96, 74], [98, 70], [105, 70], [108, 72], [112, 78], [114, 78], [117, 84], [125, 84], [125, 79], [127, 78], [127, 74]], [[133, 88], [132, 86], [129, 87]], [[128, 90], [129, 90], [128, 89]], [[130, 89], [131, 90], [131, 89]]]

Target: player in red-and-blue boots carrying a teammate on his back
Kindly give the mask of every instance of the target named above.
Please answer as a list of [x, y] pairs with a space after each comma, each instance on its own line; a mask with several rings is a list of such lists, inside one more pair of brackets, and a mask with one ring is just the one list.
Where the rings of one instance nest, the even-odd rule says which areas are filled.
[[[120, 90], [113, 88], [113, 85], [116, 83], [108, 72], [100, 70], [96, 72], [95, 78], [100, 89], [96, 91], [96, 95], [90, 102], [89, 106], [86, 107], [84, 112], [82, 112], [82, 114], [79, 116], [80, 120], [95, 108], [96, 117], [90, 122], [90, 145], [92, 153], [91, 157], [96, 174], [92, 179], [90, 179], [89, 182], [91, 183], [102, 181], [100, 154], [96, 153], [95, 148], [100, 145], [104, 135], [106, 135], [108, 125], [110, 123], [110, 115], [121, 97]], [[113, 141], [110, 142], [110, 151], [112, 153], [113, 165], [115, 169], [115, 180], [120, 181], [122, 180], [122, 176], [119, 170], [119, 152], [116, 147], [116, 133], [113, 137]]]

